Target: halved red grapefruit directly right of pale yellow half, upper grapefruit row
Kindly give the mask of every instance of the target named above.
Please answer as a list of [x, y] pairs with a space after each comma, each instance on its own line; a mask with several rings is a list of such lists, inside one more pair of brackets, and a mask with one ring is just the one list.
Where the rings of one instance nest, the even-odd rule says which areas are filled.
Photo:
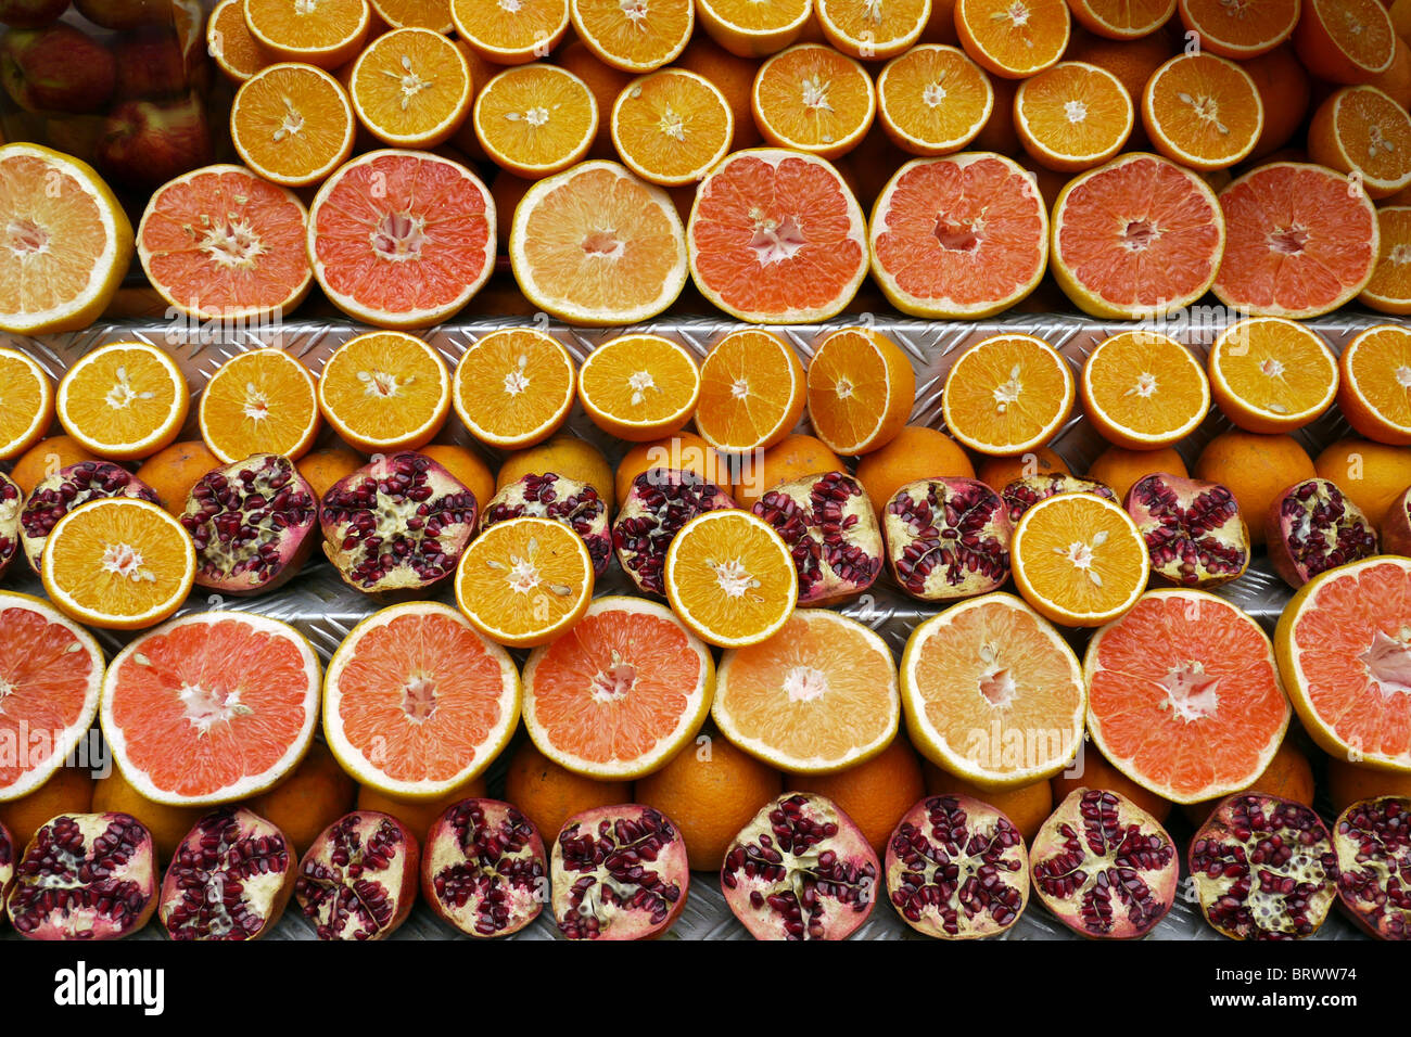
[[741, 320], [806, 323], [840, 313], [868, 269], [856, 199], [827, 161], [756, 148], [701, 182], [689, 229], [691, 277]]

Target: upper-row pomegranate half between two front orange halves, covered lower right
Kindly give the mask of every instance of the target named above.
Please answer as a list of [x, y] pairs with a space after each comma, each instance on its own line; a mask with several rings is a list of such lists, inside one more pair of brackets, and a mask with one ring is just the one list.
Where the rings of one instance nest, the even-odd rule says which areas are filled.
[[643, 594], [666, 597], [666, 549], [676, 533], [697, 515], [734, 507], [729, 494], [694, 471], [643, 471], [632, 480], [612, 523], [612, 547], [622, 570]]

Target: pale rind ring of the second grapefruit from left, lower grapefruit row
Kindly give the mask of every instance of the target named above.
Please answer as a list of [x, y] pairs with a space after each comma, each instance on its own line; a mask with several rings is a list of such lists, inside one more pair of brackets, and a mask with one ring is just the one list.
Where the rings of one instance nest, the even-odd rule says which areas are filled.
[[[151, 639], [165, 635], [179, 626], [189, 625], [216, 625], [227, 621], [236, 621], [247, 624], [257, 632], [270, 633], [274, 636], [284, 638], [289, 645], [295, 648], [299, 657], [303, 662], [305, 674], [308, 676], [308, 687], [302, 698], [303, 721], [299, 727], [298, 736], [289, 744], [284, 755], [264, 773], [247, 775], [243, 780], [236, 784], [214, 789], [209, 793], [200, 796], [182, 796], [166, 789], [158, 787], [148, 772], [140, 769], [130, 756], [128, 736], [127, 732], [117, 724], [114, 717], [114, 698], [120, 694], [119, 680], [121, 676], [123, 666], [133, 660], [134, 665], [145, 665], [143, 656], [143, 645]], [[313, 728], [319, 720], [319, 684], [322, 677], [322, 666], [319, 665], [319, 657], [313, 652], [313, 646], [309, 641], [299, 633], [293, 626], [279, 619], [271, 619], [270, 617], [258, 615], [255, 612], [192, 612], [189, 615], [179, 617], [171, 622], [158, 626], [154, 631], [144, 633], [143, 636], [134, 639], [121, 652], [114, 656], [111, 665], [107, 667], [107, 673], [103, 677], [103, 696], [102, 704], [99, 707], [99, 724], [103, 729], [103, 738], [113, 752], [113, 760], [117, 763], [117, 769], [121, 772], [127, 783], [133, 786], [145, 799], [154, 803], [164, 803], [174, 807], [198, 807], [198, 806], [219, 806], [223, 803], [236, 803], [244, 800], [250, 796], [257, 796], [258, 793], [274, 787], [285, 776], [293, 772], [296, 766], [303, 760], [305, 753], [309, 751], [309, 745], [313, 742]], [[258, 680], [258, 674], [248, 674], [248, 679]]]

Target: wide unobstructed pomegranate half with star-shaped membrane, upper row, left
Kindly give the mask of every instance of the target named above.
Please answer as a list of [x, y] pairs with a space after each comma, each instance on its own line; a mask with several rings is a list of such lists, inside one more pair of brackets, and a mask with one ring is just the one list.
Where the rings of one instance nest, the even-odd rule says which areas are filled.
[[323, 495], [323, 552], [356, 590], [422, 591], [456, 571], [478, 518], [476, 494], [444, 467], [391, 454]]

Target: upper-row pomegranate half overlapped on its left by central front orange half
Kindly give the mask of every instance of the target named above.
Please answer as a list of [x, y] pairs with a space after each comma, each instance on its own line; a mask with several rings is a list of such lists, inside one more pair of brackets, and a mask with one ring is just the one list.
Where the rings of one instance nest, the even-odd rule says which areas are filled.
[[793, 553], [799, 604], [861, 594], [882, 571], [882, 530], [862, 484], [842, 471], [780, 483], [753, 505]]

